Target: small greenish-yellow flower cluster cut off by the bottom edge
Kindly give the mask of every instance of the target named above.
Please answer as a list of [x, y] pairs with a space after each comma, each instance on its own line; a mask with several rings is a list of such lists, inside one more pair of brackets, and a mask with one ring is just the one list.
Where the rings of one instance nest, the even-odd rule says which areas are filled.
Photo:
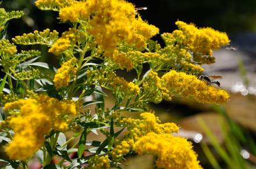
[[88, 163], [90, 165], [89, 168], [91, 169], [111, 168], [108, 156], [99, 157], [98, 155], [95, 155], [89, 159]]

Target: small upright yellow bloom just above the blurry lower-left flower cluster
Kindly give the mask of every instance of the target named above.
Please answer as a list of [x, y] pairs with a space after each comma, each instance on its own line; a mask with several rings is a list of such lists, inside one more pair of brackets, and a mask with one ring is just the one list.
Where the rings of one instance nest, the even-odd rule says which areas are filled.
[[70, 78], [76, 75], [77, 68], [74, 68], [74, 63], [76, 63], [76, 59], [70, 59], [69, 61], [63, 63], [61, 68], [58, 69], [54, 76], [54, 85], [56, 89], [68, 86]]

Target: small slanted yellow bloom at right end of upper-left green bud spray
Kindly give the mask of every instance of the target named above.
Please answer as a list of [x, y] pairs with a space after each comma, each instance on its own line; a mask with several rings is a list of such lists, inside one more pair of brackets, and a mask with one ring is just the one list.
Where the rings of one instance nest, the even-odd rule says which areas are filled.
[[52, 45], [48, 52], [58, 56], [65, 50], [69, 49], [69, 47], [72, 46], [73, 41], [74, 34], [72, 32], [72, 29], [70, 29], [69, 31], [63, 32], [61, 38], [57, 39], [57, 41]]

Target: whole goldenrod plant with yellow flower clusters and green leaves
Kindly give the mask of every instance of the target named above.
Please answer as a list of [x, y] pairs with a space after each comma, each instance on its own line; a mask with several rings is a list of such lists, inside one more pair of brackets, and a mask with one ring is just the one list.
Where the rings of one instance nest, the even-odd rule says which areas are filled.
[[[137, 153], [155, 155], [158, 168], [202, 168], [191, 142], [173, 135], [179, 126], [161, 123], [148, 103], [172, 97], [228, 101], [226, 90], [199, 78], [201, 65], [215, 62], [213, 50], [229, 44], [224, 32], [178, 20], [177, 30], [161, 34], [161, 46], [151, 39], [159, 29], [126, 1], [38, 0], [35, 5], [58, 12], [70, 28], [62, 34], [35, 30], [9, 41], [8, 21], [23, 12], [0, 9], [0, 140], [6, 166], [27, 168], [37, 156], [45, 168], [121, 168], [126, 155]], [[60, 67], [38, 62], [39, 50], [18, 51], [16, 45], [47, 46]], [[136, 76], [129, 80], [118, 75], [120, 70]], [[115, 104], [105, 104], [106, 91]], [[141, 112], [140, 119], [123, 112]], [[66, 131], [73, 131], [67, 140]], [[90, 133], [102, 133], [105, 140], [90, 140]], [[55, 156], [62, 160], [53, 164]]]

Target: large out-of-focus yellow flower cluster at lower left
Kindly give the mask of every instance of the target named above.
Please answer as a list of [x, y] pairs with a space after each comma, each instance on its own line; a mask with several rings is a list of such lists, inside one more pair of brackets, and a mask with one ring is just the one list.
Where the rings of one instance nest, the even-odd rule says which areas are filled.
[[13, 128], [15, 135], [5, 147], [6, 153], [13, 160], [31, 157], [42, 146], [44, 135], [51, 128], [65, 131], [67, 116], [76, 115], [76, 104], [73, 101], [61, 102], [47, 95], [9, 102], [4, 107], [4, 111], [17, 109], [20, 111], [8, 119], [8, 125]]

